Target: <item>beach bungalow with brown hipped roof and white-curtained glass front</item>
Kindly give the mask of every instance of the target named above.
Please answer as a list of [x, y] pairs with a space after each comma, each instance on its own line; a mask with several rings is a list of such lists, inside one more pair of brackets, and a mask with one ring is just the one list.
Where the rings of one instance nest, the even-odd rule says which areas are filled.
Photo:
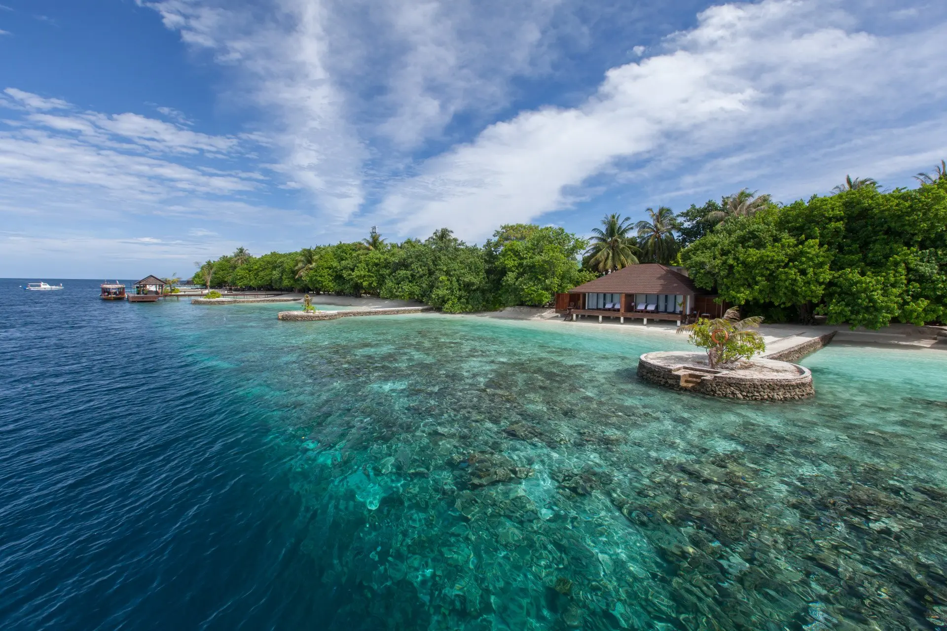
[[602, 318], [670, 320], [678, 325], [699, 317], [724, 316], [725, 304], [716, 295], [699, 289], [684, 268], [657, 263], [629, 265], [589, 281], [568, 293], [556, 294], [556, 313]]

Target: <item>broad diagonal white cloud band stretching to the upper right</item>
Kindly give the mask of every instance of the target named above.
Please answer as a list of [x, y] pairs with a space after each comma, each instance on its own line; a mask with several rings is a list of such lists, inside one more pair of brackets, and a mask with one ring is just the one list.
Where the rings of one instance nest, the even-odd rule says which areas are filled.
[[664, 54], [609, 70], [581, 106], [518, 114], [431, 158], [394, 187], [382, 215], [402, 233], [450, 225], [484, 237], [568, 207], [597, 174], [667, 179], [720, 152], [754, 155], [750, 167], [768, 172], [779, 148], [804, 160], [803, 138], [819, 147], [866, 124], [898, 127], [908, 108], [947, 96], [937, 62], [944, 25], [881, 37], [847, 29], [849, 16], [827, 9], [793, 0], [707, 9]]

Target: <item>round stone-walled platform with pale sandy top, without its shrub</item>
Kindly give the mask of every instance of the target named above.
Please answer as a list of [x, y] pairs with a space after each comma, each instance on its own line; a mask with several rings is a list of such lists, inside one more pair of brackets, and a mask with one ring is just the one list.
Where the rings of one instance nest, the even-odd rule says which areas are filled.
[[754, 358], [725, 369], [711, 369], [704, 353], [645, 353], [638, 377], [666, 388], [751, 399], [785, 401], [813, 396], [808, 368], [775, 359]]

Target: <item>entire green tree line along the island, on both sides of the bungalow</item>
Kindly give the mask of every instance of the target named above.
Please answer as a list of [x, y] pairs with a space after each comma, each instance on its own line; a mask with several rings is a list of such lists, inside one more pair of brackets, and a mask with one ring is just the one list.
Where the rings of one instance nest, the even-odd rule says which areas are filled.
[[656, 262], [684, 266], [698, 287], [767, 322], [877, 328], [947, 320], [947, 165], [920, 187], [883, 191], [846, 178], [829, 196], [788, 205], [746, 189], [675, 215], [606, 216], [590, 240], [562, 228], [502, 226], [483, 246], [446, 228], [387, 243], [251, 256], [240, 248], [197, 264], [207, 287], [307, 290], [413, 299], [445, 311], [546, 305], [596, 275]]

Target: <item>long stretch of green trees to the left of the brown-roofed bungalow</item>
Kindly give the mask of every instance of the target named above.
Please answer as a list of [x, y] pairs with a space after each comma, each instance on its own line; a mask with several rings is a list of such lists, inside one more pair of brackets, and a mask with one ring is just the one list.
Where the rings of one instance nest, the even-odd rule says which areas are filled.
[[386, 243], [377, 231], [355, 243], [251, 256], [245, 250], [198, 264], [208, 287], [304, 290], [418, 300], [445, 311], [545, 305], [595, 277], [581, 269], [585, 239], [557, 227], [512, 224], [483, 246], [442, 228], [421, 241]]

